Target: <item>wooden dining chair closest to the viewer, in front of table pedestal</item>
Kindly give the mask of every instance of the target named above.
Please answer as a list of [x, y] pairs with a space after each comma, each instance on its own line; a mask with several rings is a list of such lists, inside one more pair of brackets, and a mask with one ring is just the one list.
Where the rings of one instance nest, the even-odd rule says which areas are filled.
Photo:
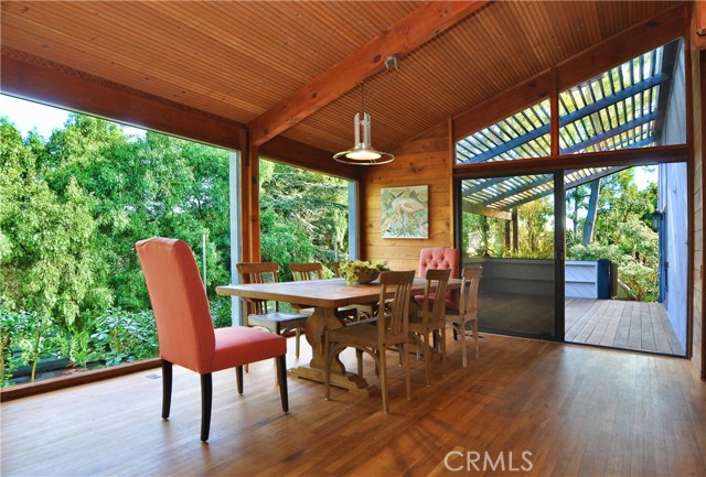
[[[379, 373], [383, 394], [383, 412], [388, 412], [387, 403], [387, 359], [389, 347], [402, 348], [403, 366], [407, 387], [407, 399], [411, 399], [411, 383], [409, 378], [409, 295], [415, 272], [382, 272], [379, 275], [381, 291], [378, 300], [378, 317], [375, 326], [355, 325], [339, 329], [329, 329], [325, 334], [325, 399], [331, 394], [331, 361], [346, 347], [356, 349], [359, 357], [359, 373], [362, 371], [362, 355], [366, 353], [373, 357]], [[386, 306], [385, 299], [394, 290], [394, 299]]]

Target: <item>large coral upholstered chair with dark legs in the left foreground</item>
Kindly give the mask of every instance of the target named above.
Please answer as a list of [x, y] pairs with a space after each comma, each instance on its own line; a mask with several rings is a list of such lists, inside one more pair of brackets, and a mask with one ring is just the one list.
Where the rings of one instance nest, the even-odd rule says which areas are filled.
[[243, 366], [277, 358], [282, 411], [289, 411], [284, 337], [244, 326], [213, 328], [208, 300], [191, 248], [183, 240], [154, 237], [135, 245], [154, 311], [162, 358], [162, 419], [169, 418], [172, 365], [201, 375], [201, 440], [211, 427], [211, 373], [235, 368], [243, 393]]

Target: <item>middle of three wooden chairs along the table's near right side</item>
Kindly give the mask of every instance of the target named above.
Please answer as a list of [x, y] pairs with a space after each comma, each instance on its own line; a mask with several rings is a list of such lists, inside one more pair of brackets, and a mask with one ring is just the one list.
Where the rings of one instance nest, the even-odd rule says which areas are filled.
[[424, 353], [427, 386], [431, 386], [431, 353], [434, 350], [431, 337], [434, 335], [439, 338], [441, 372], [446, 369], [446, 303], [442, 300], [434, 300], [434, 297], [446, 294], [450, 277], [451, 269], [427, 270], [421, 308], [418, 313], [409, 316], [409, 333], [417, 342], [417, 358], [419, 349]]

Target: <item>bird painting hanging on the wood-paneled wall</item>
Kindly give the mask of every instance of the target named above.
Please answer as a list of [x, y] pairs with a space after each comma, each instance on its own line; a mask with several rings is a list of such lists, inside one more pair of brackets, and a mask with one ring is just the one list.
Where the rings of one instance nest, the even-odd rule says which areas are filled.
[[383, 188], [381, 215], [383, 238], [429, 238], [429, 186]]

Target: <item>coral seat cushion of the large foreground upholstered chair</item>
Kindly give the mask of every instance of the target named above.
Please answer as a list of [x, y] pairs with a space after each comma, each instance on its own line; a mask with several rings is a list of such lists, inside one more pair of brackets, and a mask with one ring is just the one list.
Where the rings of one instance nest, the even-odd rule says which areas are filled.
[[214, 333], [216, 348], [212, 361], [213, 371], [260, 361], [287, 353], [286, 338], [263, 329], [232, 326], [216, 328]]

